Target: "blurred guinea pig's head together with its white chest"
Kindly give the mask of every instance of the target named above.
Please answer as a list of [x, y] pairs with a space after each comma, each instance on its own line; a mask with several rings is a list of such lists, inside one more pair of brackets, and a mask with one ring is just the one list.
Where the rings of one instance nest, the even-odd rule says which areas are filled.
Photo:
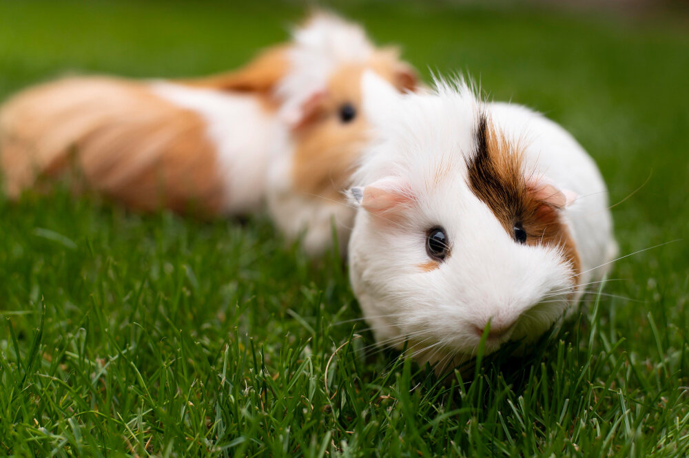
[[329, 247], [333, 227], [345, 251], [354, 212], [342, 190], [370, 130], [362, 112], [362, 75], [375, 72], [400, 93], [419, 83], [396, 48], [376, 48], [358, 25], [320, 17], [296, 31], [294, 41], [294, 71], [278, 86], [292, 147], [280, 149], [269, 165], [269, 214], [288, 238], [303, 234], [302, 246], [312, 255]]

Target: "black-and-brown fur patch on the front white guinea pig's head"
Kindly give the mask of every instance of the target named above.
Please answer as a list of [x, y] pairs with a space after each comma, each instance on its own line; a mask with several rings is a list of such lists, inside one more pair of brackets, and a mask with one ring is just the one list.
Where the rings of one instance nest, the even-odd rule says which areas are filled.
[[469, 185], [473, 193], [493, 211], [505, 231], [514, 227], [526, 231], [526, 243], [560, 247], [574, 273], [580, 262], [574, 240], [562, 224], [559, 209], [536, 197], [536, 190], [524, 176], [522, 152], [481, 116], [477, 129], [477, 152], [469, 163]]

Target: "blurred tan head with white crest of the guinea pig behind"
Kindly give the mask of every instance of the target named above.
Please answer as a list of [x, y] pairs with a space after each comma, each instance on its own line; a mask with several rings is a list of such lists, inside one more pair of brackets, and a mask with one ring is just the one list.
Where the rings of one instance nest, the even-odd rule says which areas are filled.
[[359, 25], [324, 12], [294, 30], [285, 55], [289, 70], [276, 96], [294, 142], [291, 183], [304, 195], [341, 200], [369, 133], [364, 72], [402, 93], [417, 87], [415, 70], [397, 49], [376, 47]]

